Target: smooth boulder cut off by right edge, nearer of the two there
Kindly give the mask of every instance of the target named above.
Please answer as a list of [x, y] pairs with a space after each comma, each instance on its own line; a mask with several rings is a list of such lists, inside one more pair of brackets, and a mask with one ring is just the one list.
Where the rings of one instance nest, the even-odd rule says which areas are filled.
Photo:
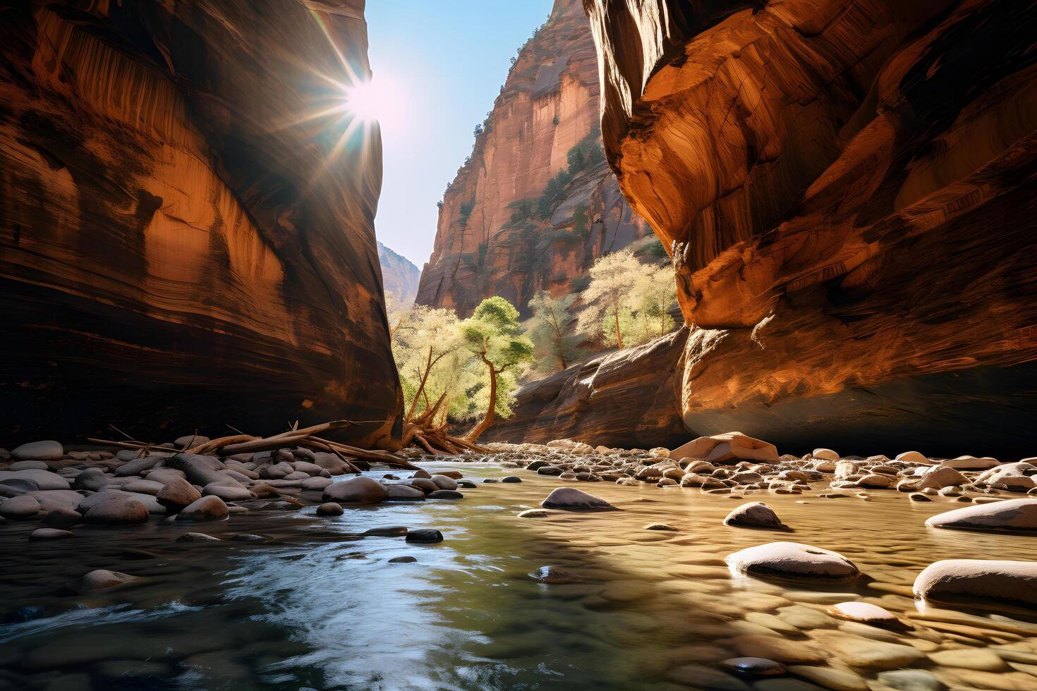
[[1037, 608], [1037, 563], [945, 559], [915, 579], [915, 596], [936, 601], [991, 601]]

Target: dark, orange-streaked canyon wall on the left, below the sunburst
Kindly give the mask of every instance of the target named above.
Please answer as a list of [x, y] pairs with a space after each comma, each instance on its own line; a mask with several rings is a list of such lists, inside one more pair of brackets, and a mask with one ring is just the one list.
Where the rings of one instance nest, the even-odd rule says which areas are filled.
[[392, 443], [380, 134], [305, 119], [348, 81], [330, 39], [369, 74], [363, 0], [309, 5], [4, 9], [5, 438], [347, 418]]

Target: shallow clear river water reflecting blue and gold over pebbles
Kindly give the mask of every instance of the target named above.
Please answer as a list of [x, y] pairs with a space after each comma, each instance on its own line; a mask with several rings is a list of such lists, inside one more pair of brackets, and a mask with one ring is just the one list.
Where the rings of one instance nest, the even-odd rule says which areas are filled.
[[[28, 542], [33, 524], [0, 526], [0, 688], [819, 688], [794, 674], [754, 681], [717, 671], [720, 660], [761, 652], [761, 636], [762, 644], [784, 641], [792, 658], [807, 651], [819, 657], [815, 666], [889, 688], [879, 683], [880, 669], [831, 650], [823, 642], [831, 635], [926, 653], [1007, 647], [1022, 661], [1015, 668], [929, 660], [912, 666], [952, 687], [1037, 688], [1037, 667], [1027, 671], [1026, 664], [1031, 655], [1037, 665], [1035, 620], [923, 613], [909, 597], [915, 575], [936, 559], [1037, 555], [1037, 537], [924, 526], [928, 516], [959, 503], [917, 503], [893, 492], [868, 500], [747, 497], [765, 500], [794, 528], [772, 534], [723, 526], [738, 501], [722, 495], [581, 483], [621, 511], [520, 519], [561, 483], [492, 464], [427, 467], [477, 479], [518, 473], [524, 482], [463, 490], [460, 501], [346, 509], [337, 518], [317, 518], [313, 509], [258, 509], [191, 528], [159, 521], [79, 527], [76, 538], [52, 543]], [[645, 530], [652, 522], [678, 529]], [[446, 540], [359, 537], [391, 525], [439, 528]], [[186, 529], [224, 538], [259, 532], [273, 541], [174, 542]], [[825, 592], [736, 577], [726, 568], [728, 553], [774, 540], [836, 549], [867, 577]], [[418, 562], [388, 563], [402, 555]], [[548, 585], [527, 575], [549, 565], [579, 581]], [[89, 596], [71, 587], [99, 568], [144, 580]], [[850, 598], [918, 627], [890, 632], [816, 614], [800, 621]]]

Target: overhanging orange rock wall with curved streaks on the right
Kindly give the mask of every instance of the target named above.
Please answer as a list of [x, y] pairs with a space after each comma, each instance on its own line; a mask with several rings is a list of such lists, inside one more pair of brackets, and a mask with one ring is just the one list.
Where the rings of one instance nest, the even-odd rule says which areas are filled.
[[585, 5], [608, 159], [693, 326], [688, 429], [1026, 455], [1037, 8]]

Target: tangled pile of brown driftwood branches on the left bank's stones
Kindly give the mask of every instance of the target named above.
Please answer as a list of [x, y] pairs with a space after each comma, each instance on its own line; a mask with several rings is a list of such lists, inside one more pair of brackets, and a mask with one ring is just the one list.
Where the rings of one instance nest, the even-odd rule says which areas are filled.
[[[353, 472], [360, 471], [357, 468], [357, 465], [369, 467], [367, 466], [367, 463], [364, 463], [363, 461], [383, 463], [385, 465], [407, 468], [409, 470], [418, 469], [418, 466], [414, 465], [402, 456], [397, 456], [396, 454], [388, 451], [358, 449], [357, 447], [351, 447], [348, 444], [339, 443], [338, 441], [332, 441], [330, 439], [324, 439], [316, 436], [317, 434], [321, 434], [324, 432], [330, 432], [357, 424], [359, 423], [349, 420], [335, 420], [330, 423], [314, 425], [303, 429], [297, 429], [293, 426], [292, 429], [287, 432], [281, 432], [280, 434], [275, 434], [269, 437], [259, 437], [239, 433], [231, 436], [220, 437], [219, 439], [212, 439], [204, 443], [191, 447], [190, 449], [183, 450], [183, 453], [232, 456], [234, 454], [247, 454], [260, 451], [275, 451], [278, 449], [302, 447], [311, 451], [335, 454], [349, 466]], [[119, 447], [121, 449], [136, 449], [139, 452], [138, 455], [145, 455], [152, 449], [181, 451], [169, 449], [168, 447], [158, 447], [150, 442], [137, 441], [134, 439], [130, 439], [128, 441], [112, 441], [110, 439], [90, 438], [89, 441], [103, 443], [109, 447]], [[361, 462], [355, 464], [355, 459], [360, 459]]]

